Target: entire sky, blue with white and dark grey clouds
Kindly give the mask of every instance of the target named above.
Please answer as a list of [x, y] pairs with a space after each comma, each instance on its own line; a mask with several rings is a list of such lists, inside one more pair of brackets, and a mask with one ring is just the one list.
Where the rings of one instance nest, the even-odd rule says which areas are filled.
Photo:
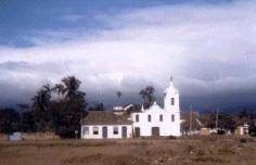
[[255, 34], [253, 0], [0, 0], [0, 106], [75, 75], [107, 109], [170, 76], [181, 110], [255, 107]]

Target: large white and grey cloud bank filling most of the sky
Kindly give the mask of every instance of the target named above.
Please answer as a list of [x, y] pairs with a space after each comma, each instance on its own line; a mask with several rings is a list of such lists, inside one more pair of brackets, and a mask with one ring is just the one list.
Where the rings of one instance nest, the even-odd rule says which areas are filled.
[[[254, 7], [255, 2], [161, 5], [98, 14], [93, 18], [105, 26], [93, 33], [39, 31], [30, 38], [34, 47], [0, 47], [0, 84], [8, 89], [1, 97], [8, 99], [0, 103], [15, 102], [24, 93], [27, 100], [22, 101], [28, 101], [43, 82], [54, 84], [66, 75], [81, 79], [91, 100], [113, 101], [116, 90], [138, 100], [146, 85], [154, 85], [161, 98], [174, 75], [185, 99], [182, 107], [208, 107], [202, 105], [204, 99], [214, 106], [219, 104], [216, 97], [256, 89]], [[64, 18], [78, 22], [82, 15]], [[222, 105], [232, 100], [226, 99]]]

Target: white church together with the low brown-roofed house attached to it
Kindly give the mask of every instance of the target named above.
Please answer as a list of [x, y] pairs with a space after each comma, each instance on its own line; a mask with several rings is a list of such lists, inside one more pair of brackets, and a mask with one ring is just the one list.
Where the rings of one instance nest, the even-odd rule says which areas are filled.
[[129, 116], [115, 112], [89, 112], [81, 119], [81, 139], [119, 139], [181, 135], [179, 90], [172, 78], [164, 92], [164, 107], [154, 104]]

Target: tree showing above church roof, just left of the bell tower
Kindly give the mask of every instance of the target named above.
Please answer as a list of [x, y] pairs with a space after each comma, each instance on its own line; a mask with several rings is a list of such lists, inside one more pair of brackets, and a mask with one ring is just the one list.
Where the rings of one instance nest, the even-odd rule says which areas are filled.
[[155, 101], [154, 92], [155, 89], [153, 86], [148, 86], [139, 92], [143, 99], [144, 109], [149, 109], [151, 105], [153, 105]]

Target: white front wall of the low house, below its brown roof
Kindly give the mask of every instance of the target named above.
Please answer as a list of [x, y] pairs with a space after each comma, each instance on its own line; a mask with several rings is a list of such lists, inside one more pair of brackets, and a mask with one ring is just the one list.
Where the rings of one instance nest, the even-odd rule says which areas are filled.
[[[99, 135], [93, 135], [93, 127], [99, 127]], [[118, 127], [118, 134], [114, 135], [114, 126]], [[81, 126], [81, 139], [103, 139], [102, 127], [107, 127], [107, 139], [120, 139], [121, 137], [121, 127], [127, 127], [127, 138], [132, 138], [132, 126], [131, 125], [82, 125]], [[84, 134], [84, 128], [89, 127], [89, 135]]]

